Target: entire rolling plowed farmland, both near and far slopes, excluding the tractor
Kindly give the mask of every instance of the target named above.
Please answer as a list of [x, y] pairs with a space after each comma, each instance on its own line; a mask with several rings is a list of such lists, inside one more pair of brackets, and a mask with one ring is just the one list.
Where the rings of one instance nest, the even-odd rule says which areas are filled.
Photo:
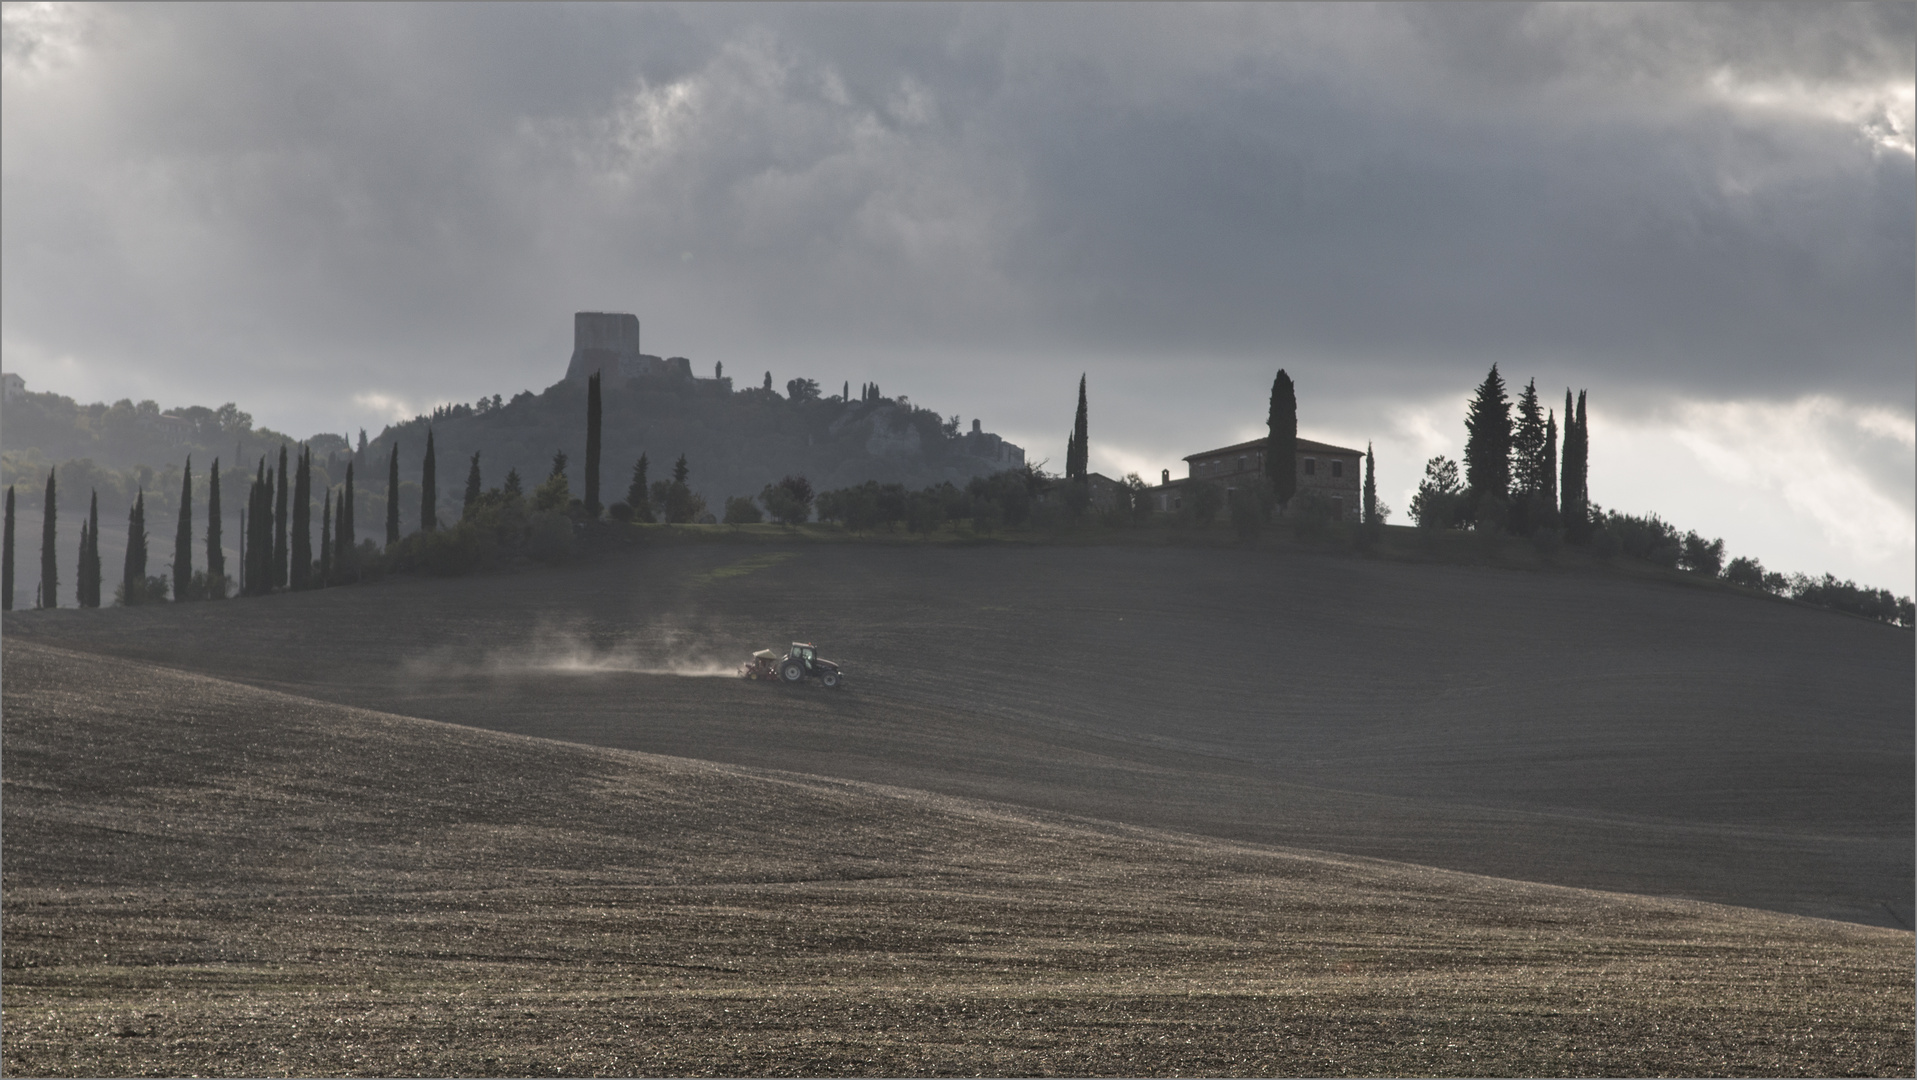
[[1911, 637], [1827, 612], [709, 543], [6, 631], [12, 1072], [1913, 1065]]

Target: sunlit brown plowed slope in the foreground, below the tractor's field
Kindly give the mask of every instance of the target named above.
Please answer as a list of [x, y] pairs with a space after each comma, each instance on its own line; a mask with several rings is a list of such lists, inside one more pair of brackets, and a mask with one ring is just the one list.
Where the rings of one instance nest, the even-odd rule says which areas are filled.
[[10, 1074], [1907, 1074], [1911, 936], [6, 643]]

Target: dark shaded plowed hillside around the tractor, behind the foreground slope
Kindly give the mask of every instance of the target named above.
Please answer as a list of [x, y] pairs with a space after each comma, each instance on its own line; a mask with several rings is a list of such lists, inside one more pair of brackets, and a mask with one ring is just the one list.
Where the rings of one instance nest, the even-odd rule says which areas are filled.
[[[1231, 549], [694, 543], [23, 612], [8, 635], [569, 742], [1913, 921], [1911, 635], [1721, 591]], [[644, 673], [792, 639], [851, 689]], [[552, 664], [569, 654], [602, 669]]]

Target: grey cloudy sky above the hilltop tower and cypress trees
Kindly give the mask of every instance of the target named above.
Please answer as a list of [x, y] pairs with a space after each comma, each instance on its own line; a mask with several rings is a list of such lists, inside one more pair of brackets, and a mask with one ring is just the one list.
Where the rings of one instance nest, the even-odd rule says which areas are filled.
[[[0, 363], [297, 435], [644, 347], [1095, 470], [1376, 443], [1497, 363], [1593, 497], [1917, 560], [1917, 8], [8, 4]], [[1401, 510], [1399, 510], [1401, 512]]]

